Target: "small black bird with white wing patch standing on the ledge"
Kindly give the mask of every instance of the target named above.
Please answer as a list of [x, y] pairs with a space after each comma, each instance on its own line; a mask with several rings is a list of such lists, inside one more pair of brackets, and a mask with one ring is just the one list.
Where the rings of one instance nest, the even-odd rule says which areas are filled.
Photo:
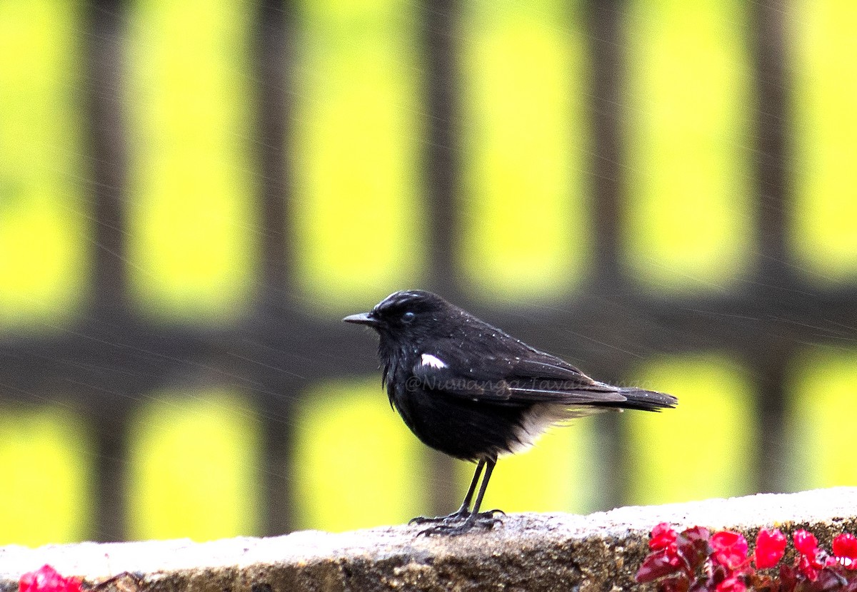
[[[476, 463], [464, 503], [423, 534], [458, 535], [493, 526], [479, 512], [497, 458], [523, 452], [550, 426], [610, 409], [659, 411], [678, 400], [642, 388], [597, 382], [567, 362], [540, 352], [436, 294], [390, 294], [346, 323], [378, 332], [378, 356], [390, 404], [424, 444]], [[476, 483], [485, 477], [470, 510]]]

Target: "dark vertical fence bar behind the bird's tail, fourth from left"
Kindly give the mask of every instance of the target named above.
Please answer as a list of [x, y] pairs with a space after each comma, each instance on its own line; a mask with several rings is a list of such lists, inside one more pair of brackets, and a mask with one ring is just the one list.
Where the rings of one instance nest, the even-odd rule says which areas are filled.
[[[622, 14], [625, 3], [620, 1], [584, 3], [588, 11], [590, 40], [590, 103], [591, 175], [594, 276], [591, 290], [610, 299], [620, 296], [625, 285], [620, 270], [620, 240], [622, 223]], [[607, 370], [607, 369], [605, 369]], [[621, 376], [623, 369], [611, 364], [612, 376]], [[606, 375], [605, 375], [606, 376]], [[626, 497], [623, 468], [623, 443], [620, 441], [618, 415], [605, 414], [596, 423], [599, 481], [612, 484], [601, 488], [599, 508], [619, 506]]]

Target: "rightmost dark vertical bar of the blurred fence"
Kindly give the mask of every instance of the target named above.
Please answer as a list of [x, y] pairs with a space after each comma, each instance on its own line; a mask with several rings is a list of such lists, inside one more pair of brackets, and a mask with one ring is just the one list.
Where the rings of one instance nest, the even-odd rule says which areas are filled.
[[[793, 277], [788, 264], [788, 86], [786, 76], [785, 15], [783, 0], [747, 4], [754, 50], [758, 109], [756, 110], [755, 175], [757, 191], [758, 287], [770, 302], [799, 298], [794, 291], [770, 293], [768, 287], [790, 285]], [[772, 339], [776, 336], [772, 335]], [[783, 452], [786, 450], [785, 381], [786, 364], [792, 357], [782, 340], [765, 347], [764, 356], [754, 357], [759, 373], [757, 471], [761, 491], [782, 490]]]

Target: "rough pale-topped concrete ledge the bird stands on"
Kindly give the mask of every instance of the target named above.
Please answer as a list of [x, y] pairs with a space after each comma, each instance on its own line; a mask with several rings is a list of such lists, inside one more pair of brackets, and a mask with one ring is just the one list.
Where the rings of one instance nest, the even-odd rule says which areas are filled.
[[[807, 528], [830, 539], [857, 533], [857, 488], [758, 494], [668, 506], [629, 506], [589, 516], [513, 514], [494, 530], [417, 536], [418, 526], [195, 543], [84, 542], [0, 548], [0, 591], [45, 563], [103, 592], [193, 590], [620, 590], [633, 581], [651, 527], [668, 521], [744, 532]], [[112, 579], [109, 579], [112, 578]]]

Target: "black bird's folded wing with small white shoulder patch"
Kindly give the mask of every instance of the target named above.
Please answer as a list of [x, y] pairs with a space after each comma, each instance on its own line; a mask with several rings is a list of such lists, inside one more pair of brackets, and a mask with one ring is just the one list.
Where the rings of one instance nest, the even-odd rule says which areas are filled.
[[530, 348], [513, 356], [466, 358], [460, 350], [424, 354], [413, 370], [415, 386], [475, 401], [519, 405], [620, 403], [620, 389], [596, 382], [560, 358]]

